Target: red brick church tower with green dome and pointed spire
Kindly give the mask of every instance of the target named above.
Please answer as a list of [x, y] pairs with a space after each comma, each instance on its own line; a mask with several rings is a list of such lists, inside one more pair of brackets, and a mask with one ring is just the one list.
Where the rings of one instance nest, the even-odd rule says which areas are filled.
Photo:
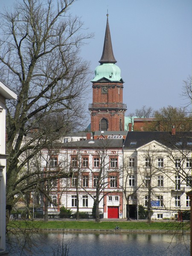
[[89, 104], [91, 131], [124, 131], [126, 104], [121, 70], [116, 66], [107, 14], [105, 40], [100, 65], [93, 78], [93, 103]]

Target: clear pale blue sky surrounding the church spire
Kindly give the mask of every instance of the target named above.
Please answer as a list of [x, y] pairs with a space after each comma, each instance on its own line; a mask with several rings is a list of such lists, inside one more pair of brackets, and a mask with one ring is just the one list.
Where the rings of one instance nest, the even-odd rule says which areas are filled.
[[[0, 10], [14, 2], [0, 0]], [[154, 110], [184, 107], [183, 80], [192, 75], [192, 1], [77, 0], [70, 13], [81, 17], [87, 32], [94, 33], [81, 50], [93, 77], [102, 56], [107, 10], [116, 65], [125, 81], [125, 115], [144, 105]], [[91, 88], [90, 82], [87, 109]]]

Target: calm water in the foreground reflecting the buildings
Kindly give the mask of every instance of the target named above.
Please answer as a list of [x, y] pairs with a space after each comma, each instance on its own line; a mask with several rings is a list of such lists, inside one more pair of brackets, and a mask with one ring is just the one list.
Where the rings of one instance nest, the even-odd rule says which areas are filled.
[[[62, 241], [69, 246], [68, 256], [189, 256], [190, 235], [38, 233], [28, 234], [29, 244], [21, 252], [22, 234], [13, 237], [9, 256], [61, 256]], [[17, 237], [18, 236], [18, 237]], [[18, 240], [17, 240], [18, 239]], [[27, 240], [28, 241], [28, 240]], [[9, 247], [10, 248], [10, 247]], [[55, 254], [54, 254], [55, 251]], [[64, 254], [63, 254], [64, 255]]]

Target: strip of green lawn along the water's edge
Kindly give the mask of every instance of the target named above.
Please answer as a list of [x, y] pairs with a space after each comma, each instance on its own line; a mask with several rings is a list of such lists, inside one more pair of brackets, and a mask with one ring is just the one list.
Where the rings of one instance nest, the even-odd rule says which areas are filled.
[[113, 230], [119, 226], [124, 230], [189, 230], [189, 222], [137, 222], [137, 221], [10, 221], [9, 228], [56, 228], [56, 229], [99, 229]]

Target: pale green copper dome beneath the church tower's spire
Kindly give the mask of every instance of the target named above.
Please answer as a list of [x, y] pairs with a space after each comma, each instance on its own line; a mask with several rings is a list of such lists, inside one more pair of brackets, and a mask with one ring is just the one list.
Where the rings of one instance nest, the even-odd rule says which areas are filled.
[[114, 63], [103, 63], [96, 67], [95, 77], [91, 81], [96, 82], [102, 78], [106, 78], [109, 81], [122, 81], [121, 70]]

